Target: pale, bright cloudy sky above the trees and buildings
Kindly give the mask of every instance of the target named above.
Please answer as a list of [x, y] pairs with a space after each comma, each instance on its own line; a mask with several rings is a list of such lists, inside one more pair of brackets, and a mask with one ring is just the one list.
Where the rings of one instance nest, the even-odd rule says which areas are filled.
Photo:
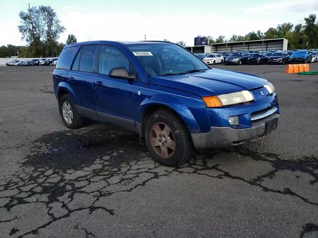
[[[202, 3], [206, 2], [206, 3]], [[184, 41], [194, 45], [198, 35], [245, 35], [266, 31], [284, 22], [299, 24], [318, 15], [318, 0], [0, 0], [0, 45], [26, 45], [18, 31], [19, 12], [50, 5], [68, 34], [77, 41]]]

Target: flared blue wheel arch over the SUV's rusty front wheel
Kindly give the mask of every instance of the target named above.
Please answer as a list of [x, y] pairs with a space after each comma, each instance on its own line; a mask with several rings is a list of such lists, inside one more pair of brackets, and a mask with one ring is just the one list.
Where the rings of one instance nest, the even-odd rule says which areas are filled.
[[150, 98], [145, 98], [137, 110], [137, 119], [141, 121], [143, 113], [148, 107], [153, 105], [162, 105], [171, 108], [184, 121], [190, 133], [200, 132], [200, 127], [189, 108], [179, 99], [171, 95], [164, 95], [164, 97], [162, 97], [162, 95], [157, 94]]

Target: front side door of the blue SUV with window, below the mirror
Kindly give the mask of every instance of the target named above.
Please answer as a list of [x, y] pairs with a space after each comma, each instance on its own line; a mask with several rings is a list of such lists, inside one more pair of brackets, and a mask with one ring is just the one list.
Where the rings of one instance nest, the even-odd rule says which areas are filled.
[[130, 75], [135, 70], [125, 54], [114, 46], [100, 46], [98, 74], [94, 76], [94, 97], [99, 119], [135, 129], [135, 78], [109, 77], [111, 69], [125, 67]]

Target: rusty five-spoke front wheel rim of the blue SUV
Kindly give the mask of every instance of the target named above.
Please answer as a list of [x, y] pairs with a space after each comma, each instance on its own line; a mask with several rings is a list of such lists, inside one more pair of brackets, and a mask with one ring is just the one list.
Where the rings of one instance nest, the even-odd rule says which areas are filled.
[[150, 130], [150, 143], [162, 158], [170, 158], [175, 151], [175, 137], [171, 128], [164, 122], [155, 123]]

